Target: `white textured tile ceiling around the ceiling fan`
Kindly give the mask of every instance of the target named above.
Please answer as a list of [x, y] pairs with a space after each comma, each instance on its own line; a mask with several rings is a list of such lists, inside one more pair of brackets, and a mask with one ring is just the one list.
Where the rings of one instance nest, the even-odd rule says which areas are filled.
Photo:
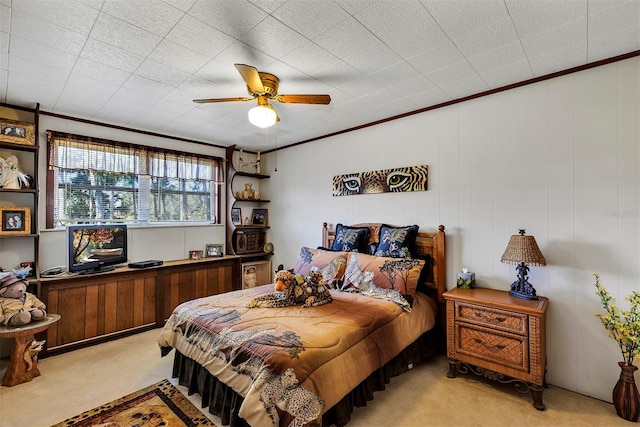
[[[0, 0], [0, 101], [266, 150], [640, 50], [640, 0]], [[234, 63], [280, 78], [251, 125]]]

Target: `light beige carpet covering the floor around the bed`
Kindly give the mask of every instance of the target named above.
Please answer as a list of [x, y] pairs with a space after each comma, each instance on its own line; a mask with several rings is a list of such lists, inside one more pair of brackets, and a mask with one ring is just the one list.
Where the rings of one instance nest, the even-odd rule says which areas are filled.
[[[0, 387], [0, 427], [49, 427], [168, 378], [173, 353], [160, 357], [159, 332], [150, 330], [41, 359], [40, 377]], [[0, 360], [0, 376], [7, 365], [6, 359]], [[547, 409], [538, 411], [529, 393], [475, 375], [447, 378], [447, 371], [447, 358], [437, 356], [392, 378], [366, 407], [355, 409], [347, 427], [637, 425], [619, 418], [611, 403], [558, 387], [544, 390]], [[616, 381], [611, 378], [612, 390]], [[176, 388], [187, 394], [185, 387]], [[200, 408], [199, 395], [187, 398]], [[220, 426], [207, 408], [200, 410]]]

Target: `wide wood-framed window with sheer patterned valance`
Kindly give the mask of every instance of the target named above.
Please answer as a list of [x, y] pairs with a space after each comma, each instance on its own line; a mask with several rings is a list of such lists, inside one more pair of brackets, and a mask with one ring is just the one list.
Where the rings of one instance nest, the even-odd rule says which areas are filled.
[[220, 223], [220, 158], [56, 131], [47, 143], [47, 228]]

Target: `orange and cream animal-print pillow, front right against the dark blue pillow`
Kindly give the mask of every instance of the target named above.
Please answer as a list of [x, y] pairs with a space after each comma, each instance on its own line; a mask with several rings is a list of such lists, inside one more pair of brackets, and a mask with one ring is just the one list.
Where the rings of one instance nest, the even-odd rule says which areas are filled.
[[342, 289], [362, 288], [369, 282], [378, 288], [393, 289], [413, 297], [425, 261], [352, 253], [344, 273]]

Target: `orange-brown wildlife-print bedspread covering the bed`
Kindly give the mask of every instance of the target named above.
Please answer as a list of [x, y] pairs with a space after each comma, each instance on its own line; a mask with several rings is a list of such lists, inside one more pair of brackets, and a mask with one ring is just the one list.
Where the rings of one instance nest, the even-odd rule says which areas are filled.
[[[367, 296], [331, 291], [319, 307], [247, 308], [273, 285], [179, 305], [158, 343], [195, 360], [244, 397], [252, 426], [320, 422], [330, 408], [435, 324], [435, 304], [417, 294], [408, 313]], [[166, 354], [166, 352], [164, 352]]]

